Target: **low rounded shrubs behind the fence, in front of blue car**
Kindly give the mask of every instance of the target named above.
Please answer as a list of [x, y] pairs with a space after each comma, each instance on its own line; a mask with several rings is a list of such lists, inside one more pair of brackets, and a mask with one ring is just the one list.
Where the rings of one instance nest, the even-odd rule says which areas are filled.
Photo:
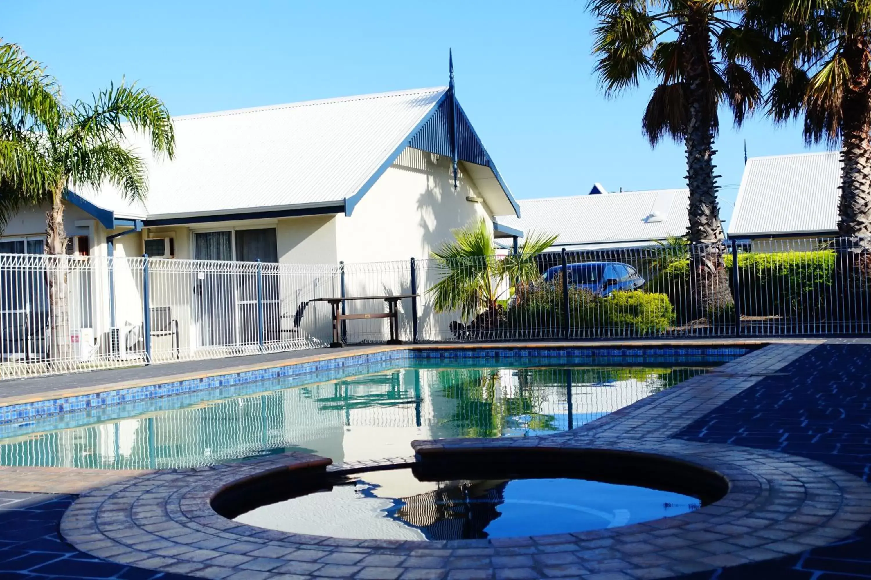
[[[569, 290], [571, 328], [606, 329], [613, 335], [643, 336], [665, 332], [674, 309], [665, 294], [632, 290], [598, 297], [587, 290]], [[563, 291], [558, 283], [528, 290], [506, 312], [509, 326], [559, 330], [563, 327]]]

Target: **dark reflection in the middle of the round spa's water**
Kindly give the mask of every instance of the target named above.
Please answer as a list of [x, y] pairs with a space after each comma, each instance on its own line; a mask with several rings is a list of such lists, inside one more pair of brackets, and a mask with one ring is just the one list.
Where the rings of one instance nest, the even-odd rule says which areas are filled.
[[504, 502], [507, 481], [440, 484], [439, 489], [397, 501], [388, 515], [421, 530], [429, 540], [487, 537], [484, 531], [499, 517], [496, 506]]

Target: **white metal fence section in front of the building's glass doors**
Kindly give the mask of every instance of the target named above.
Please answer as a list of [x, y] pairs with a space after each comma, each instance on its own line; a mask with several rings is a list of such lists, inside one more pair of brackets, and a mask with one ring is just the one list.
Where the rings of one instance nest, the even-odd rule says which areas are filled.
[[329, 342], [335, 266], [0, 255], [0, 377]]

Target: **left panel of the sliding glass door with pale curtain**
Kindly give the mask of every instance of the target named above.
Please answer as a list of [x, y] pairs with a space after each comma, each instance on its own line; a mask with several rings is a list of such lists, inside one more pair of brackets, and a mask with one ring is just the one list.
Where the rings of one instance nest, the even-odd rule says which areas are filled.
[[233, 232], [197, 232], [193, 235], [193, 241], [198, 260], [224, 262], [203, 264], [194, 283], [199, 346], [235, 344], [236, 299], [230, 267], [233, 262]]

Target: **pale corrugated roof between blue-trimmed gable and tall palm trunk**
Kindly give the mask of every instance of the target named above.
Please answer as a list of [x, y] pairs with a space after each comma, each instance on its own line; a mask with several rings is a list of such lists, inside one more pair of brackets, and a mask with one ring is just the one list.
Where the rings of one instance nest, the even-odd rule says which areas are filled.
[[501, 217], [498, 222], [527, 236], [530, 231], [556, 234], [554, 246], [632, 245], [683, 236], [689, 223], [688, 200], [689, 190], [523, 199], [522, 217]]

